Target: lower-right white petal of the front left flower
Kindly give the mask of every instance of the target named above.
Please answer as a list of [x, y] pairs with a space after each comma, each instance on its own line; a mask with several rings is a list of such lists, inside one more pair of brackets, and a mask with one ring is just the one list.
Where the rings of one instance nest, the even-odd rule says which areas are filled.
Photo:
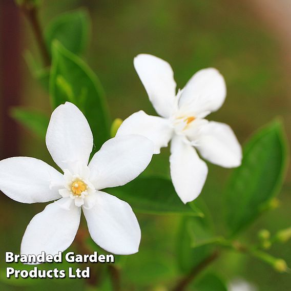
[[95, 206], [83, 211], [92, 239], [104, 250], [116, 255], [138, 252], [140, 227], [127, 202], [98, 191]]

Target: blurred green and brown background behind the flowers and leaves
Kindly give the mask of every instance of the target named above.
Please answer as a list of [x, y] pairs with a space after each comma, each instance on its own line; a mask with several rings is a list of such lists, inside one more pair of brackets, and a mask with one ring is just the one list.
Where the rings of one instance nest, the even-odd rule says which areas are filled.
[[[272, 29], [275, 24], [264, 17], [266, 10], [252, 6], [248, 1], [228, 0], [44, 1], [40, 20], [45, 26], [59, 13], [79, 7], [88, 9], [92, 19], [91, 41], [83, 57], [105, 88], [113, 119], [124, 119], [141, 109], [155, 115], [133, 67], [134, 56], [150, 53], [169, 61], [178, 88], [182, 88], [199, 69], [219, 69], [226, 80], [227, 98], [224, 106], [209, 119], [230, 124], [241, 143], [276, 116], [283, 117], [290, 140], [291, 66], [286, 52], [291, 47], [287, 41], [281, 41], [282, 35], [276, 29]], [[26, 19], [17, 13], [11, 0], [1, 3], [0, 17], [3, 40], [0, 43], [3, 80], [0, 158], [23, 155], [52, 163], [44, 141], [8, 116], [12, 106], [41, 109], [48, 115], [51, 109], [48, 93], [32, 77], [23, 57], [23, 53], [30, 50], [41, 61]], [[8, 100], [4, 95], [6, 92], [13, 95]], [[201, 194], [213, 214], [218, 233], [224, 231], [222, 194], [231, 171], [209, 164], [209, 177]], [[149, 174], [169, 177], [168, 149], [154, 156], [144, 173]], [[254, 241], [260, 228], [274, 233], [290, 226], [290, 182], [288, 171], [279, 195], [280, 207], [262, 216], [242, 240]], [[4, 252], [19, 252], [28, 222], [45, 205], [20, 204], [4, 195], [0, 203], [0, 272], [3, 273]], [[164, 290], [163, 286], [171, 286], [179, 276], [175, 265], [175, 243], [180, 217], [139, 215], [138, 218], [142, 229], [140, 252], [127, 258], [121, 272], [122, 282], [127, 290]], [[290, 246], [290, 243], [274, 246], [271, 253], [286, 259], [290, 266]], [[227, 280], [240, 277], [253, 282], [259, 290], [289, 290], [291, 286], [289, 274], [278, 274], [270, 266], [243, 255], [227, 253], [212, 268]], [[17, 286], [19, 283], [2, 278], [0, 288], [85, 288], [81, 280], [47, 279], [37, 283], [22, 280], [22, 283], [24, 281], [27, 286]], [[107, 290], [107, 287], [103, 286], [103, 289]]]

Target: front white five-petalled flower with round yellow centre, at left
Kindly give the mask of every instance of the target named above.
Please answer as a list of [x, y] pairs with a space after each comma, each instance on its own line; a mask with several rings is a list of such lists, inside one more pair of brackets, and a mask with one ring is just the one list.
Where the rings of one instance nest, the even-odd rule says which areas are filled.
[[99, 246], [120, 255], [138, 252], [140, 227], [130, 205], [99, 190], [136, 178], [151, 161], [153, 142], [140, 135], [112, 138], [88, 164], [92, 132], [81, 111], [66, 102], [52, 113], [46, 144], [64, 175], [35, 158], [0, 161], [0, 189], [11, 199], [34, 203], [60, 198], [32, 218], [20, 253], [65, 251], [78, 230], [81, 209]]

